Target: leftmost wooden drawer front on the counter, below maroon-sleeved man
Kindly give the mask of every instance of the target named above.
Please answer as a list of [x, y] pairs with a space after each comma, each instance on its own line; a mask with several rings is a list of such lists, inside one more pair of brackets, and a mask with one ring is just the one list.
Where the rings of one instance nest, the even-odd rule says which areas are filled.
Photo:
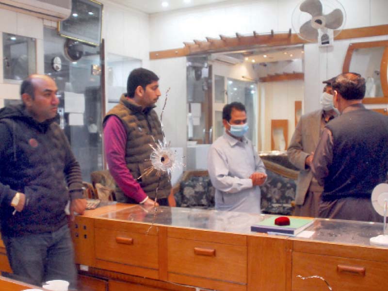
[[158, 237], [96, 228], [96, 259], [158, 269]]

